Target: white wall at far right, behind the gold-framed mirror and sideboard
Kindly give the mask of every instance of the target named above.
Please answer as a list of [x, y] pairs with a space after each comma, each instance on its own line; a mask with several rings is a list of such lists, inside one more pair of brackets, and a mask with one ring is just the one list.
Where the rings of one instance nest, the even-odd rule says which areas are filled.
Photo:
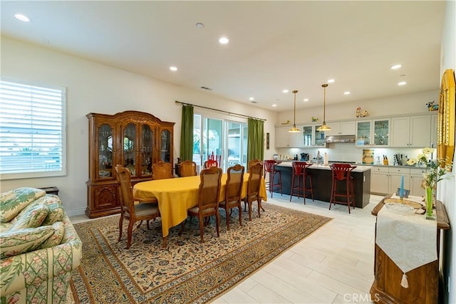
[[[445, 11], [445, 26], [443, 28], [440, 58], [440, 75], [451, 68], [456, 70], [456, 2], [447, 1]], [[454, 122], [453, 122], [454, 123]], [[453, 158], [456, 164], [456, 157]], [[448, 217], [450, 218], [450, 230], [444, 231], [443, 239], [443, 273], [445, 279], [446, 303], [456, 303], [456, 165], [452, 168], [452, 178], [443, 180], [437, 184], [437, 199], [445, 204]], [[440, 253], [442, 255], [442, 252]], [[451, 288], [450, 288], [451, 286]], [[446, 293], [448, 291], [448, 293]]]

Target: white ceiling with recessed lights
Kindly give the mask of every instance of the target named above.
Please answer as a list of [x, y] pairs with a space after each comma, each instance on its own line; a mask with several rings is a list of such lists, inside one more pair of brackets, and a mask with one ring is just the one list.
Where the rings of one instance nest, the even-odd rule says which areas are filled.
[[[1, 1], [1, 34], [278, 112], [437, 90], [445, 1]], [[31, 19], [14, 18], [21, 13]], [[196, 23], [204, 23], [197, 28]], [[227, 45], [218, 38], [227, 36]], [[399, 70], [390, 70], [395, 63]], [[171, 72], [170, 65], [179, 70]], [[398, 86], [400, 80], [407, 85]], [[343, 95], [349, 90], [351, 95]], [[308, 103], [303, 99], [309, 98]], [[276, 104], [276, 108], [271, 105]]]

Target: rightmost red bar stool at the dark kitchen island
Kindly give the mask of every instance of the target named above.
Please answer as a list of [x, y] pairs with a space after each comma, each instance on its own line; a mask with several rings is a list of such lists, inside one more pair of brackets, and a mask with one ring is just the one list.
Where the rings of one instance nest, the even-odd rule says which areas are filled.
[[[333, 184], [331, 187], [331, 199], [329, 201], [329, 210], [331, 204], [346, 204], [348, 206], [348, 213], [350, 213], [350, 204], [353, 203], [355, 209], [355, 195], [353, 190], [353, 177], [351, 171], [356, 168], [351, 164], [331, 164], [331, 172], [333, 173]], [[337, 192], [337, 184], [343, 182], [346, 184], [345, 192]], [[339, 187], [340, 189], [341, 187]], [[338, 201], [337, 197], [345, 198], [345, 201]]]

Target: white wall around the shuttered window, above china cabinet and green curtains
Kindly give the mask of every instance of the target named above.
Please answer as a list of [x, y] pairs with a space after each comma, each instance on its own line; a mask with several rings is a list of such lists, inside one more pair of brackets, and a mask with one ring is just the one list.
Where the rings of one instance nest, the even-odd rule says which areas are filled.
[[[176, 122], [175, 160], [180, 154], [182, 115], [182, 106], [177, 105], [175, 100], [264, 118], [266, 119], [264, 132], [269, 132], [271, 142], [274, 142], [274, 125], [277, 123], [275, 112], [5, 37], [1, 37], [1, 75], [67, 88], [67, 176], [2, 181], [0, 190], [5, 192], [16, 187], [56, 186], [60, 189], [59, 196], [70, 216], [83, 214], [87, 206], [88, 120], [86, 114], [89, 112], [114, 114], [124, 110], [139, 110], [150, 112], [161, 120]], [[198, 111], [199, 108], [195, 108], [195, 112]], [[213, 114], [219, 115], [219, 112]], [[232, 116], [229, 116], [229, 119], [239, 120]], [[271, 158], [272, 154], [274, 150], [265, 150], [266, 158]]]

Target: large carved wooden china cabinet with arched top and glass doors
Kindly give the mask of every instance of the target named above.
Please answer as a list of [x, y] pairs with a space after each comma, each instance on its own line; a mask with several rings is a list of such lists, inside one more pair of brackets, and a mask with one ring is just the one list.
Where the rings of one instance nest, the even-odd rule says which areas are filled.
[[163, 122], [145, 112], [115, 115], [88, 113], [89, 162], [86, 215], [120, 212], [115, 165], [130, 169], [132, 183], [152, 179], [152, 164], [170, 162], [175, 122]]

